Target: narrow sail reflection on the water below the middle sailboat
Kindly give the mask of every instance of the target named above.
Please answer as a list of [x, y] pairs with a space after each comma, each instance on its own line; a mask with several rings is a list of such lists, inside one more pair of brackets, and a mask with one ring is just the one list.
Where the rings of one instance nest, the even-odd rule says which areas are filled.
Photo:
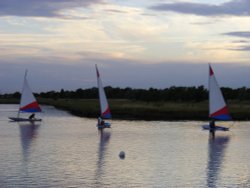
[[96, 168], [96, 186], [102, 187], [102, 179], [104, 175], [104, 167], [105, 167], [105, 155], [107, 151], [107, 146], [110, 141], [111, 133], [106, 132], [105, 130], [99, 130], [100, 142], [98, 148], [98, 160], [97, 160], [97, 168]]

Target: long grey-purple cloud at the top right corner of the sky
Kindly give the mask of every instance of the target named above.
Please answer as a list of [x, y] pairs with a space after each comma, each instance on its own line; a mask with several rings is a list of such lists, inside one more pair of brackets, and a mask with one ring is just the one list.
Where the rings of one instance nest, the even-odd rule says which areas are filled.
[[151, 6], [150, 9], [156, 11], [171, 11], [183, 14], [194, 14], [199, 16], [250, 16], [249, 0], [232, 0], [220, 5], [204, 3], [161, 3]]

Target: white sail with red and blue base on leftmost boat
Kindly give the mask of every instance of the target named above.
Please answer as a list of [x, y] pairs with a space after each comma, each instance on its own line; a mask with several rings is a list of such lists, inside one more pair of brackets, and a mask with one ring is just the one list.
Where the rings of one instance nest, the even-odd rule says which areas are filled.
[[26, 79], [27, 71], [24, 76], [24, 83], [20, 101], [20, 112], [41, 112], [41, 108], [37, 103]]

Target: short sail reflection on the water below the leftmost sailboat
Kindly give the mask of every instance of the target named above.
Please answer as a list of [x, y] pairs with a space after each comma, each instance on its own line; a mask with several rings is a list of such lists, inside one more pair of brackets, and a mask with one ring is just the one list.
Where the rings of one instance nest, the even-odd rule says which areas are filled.
[[23, 160], [28, 161], [30, 147], [32, 142], [37, 138], [37, 132], [40, 124], [35, 124], [34, 122], [19, 124], [20, 139], [23, 151]]

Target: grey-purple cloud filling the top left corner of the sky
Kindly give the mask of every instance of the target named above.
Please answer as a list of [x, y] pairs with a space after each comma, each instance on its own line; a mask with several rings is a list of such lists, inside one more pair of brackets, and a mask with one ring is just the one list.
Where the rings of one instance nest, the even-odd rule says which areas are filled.
[[62, 10], [88, 7], [103, 0], [3, 0], [0, 16], [62, 17]]

